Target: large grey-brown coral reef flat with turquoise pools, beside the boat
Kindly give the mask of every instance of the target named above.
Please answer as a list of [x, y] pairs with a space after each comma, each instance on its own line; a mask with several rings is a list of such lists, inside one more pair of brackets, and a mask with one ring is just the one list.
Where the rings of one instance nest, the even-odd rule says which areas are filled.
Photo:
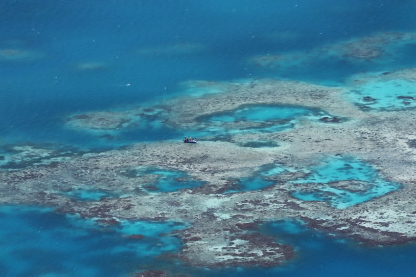
[[[376, 76], [414, 82], [413, 70], [408, 72]], [[122, 131], [142, 117], [198, 133], [198, 144], [184, 144], [182, 138], [138, 143], [1, 171], [1, 201], [46, 205], [100, 224], [185, 222], [187, 228], [175, 231], [183, 248], [174, 257], [203, 267], [277, 266], [290, 260], [296, 255], [290, 244], [257, 232], [258, 224], [276, 220], [292, 219], [370, 245], [416, 239], [415, 110], [363, 108], [359, 101], [367, 95], [347, 97], [349, 89], [357, 89], [354, 81], [339, 88], [272, 79], [191, 85], [207, 93], [147, 106], [147, 115], [143, 108], [94, 111], [71, 115], [67, 124]], [[233, 120], [255, 107], [296, 112]], [[279, 124], [290, 128], [272, 128]], [[256, 142], [261, 147], [251, 147]], [[335, 170], [334, 177], [320, 178], [325, 170]], [[239, 191], [238, 181], [259, 174], [270, 185]], [[163, 178], [198, 186], [161, 192]], [[77, 191], [97, 196], [71, 196]]]

